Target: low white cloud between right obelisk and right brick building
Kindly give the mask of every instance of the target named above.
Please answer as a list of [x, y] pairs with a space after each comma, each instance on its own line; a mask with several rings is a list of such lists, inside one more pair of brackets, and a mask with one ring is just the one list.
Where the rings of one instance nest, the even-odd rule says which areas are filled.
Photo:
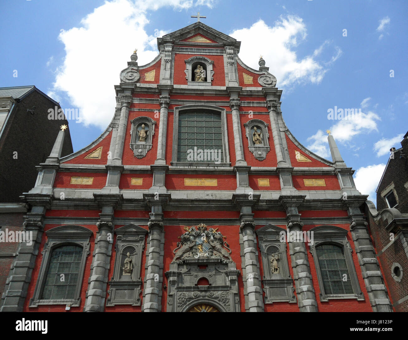
[[386, 164], [373, 164], [359, 168], [354, 174], [356, 188], [363, 195], [370, 195], [368, 200], [376, 203], [375, 190], [384, 172]]

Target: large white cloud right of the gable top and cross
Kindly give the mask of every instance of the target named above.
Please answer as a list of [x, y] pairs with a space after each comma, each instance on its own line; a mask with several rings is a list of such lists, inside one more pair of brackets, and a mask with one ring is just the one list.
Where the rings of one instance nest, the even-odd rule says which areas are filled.
[[[330, 65], [342, 53], [339, 47], [334, 47], [335, 55], [328, 62], [318, 60], [323, 49], [331, 44], [324, 41], [310, 56], [299, 59], [295, 48], [306, 39], [306, 25], [302, 18], [291, 15], [281, 16], [273, 27], [259, 20], [250, 28], [233, 31], [230, 36], [242, 41], [239, 57], [244, 63], [258, 69], [258, 56], [263, 56], [266, 66], [273, 67], [280, 88], [321, 82]], [[266, 48], [265, 41], [273, 42], [273, 48]]]

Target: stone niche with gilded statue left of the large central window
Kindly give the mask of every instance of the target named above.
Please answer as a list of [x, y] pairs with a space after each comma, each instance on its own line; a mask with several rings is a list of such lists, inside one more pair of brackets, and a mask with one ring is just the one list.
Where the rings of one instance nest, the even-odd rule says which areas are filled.
[[[143, 158], [147, 152], [152, 148], [154, 127], [156, 122], [149, 117], [136, 117], [131, 121], [130, 134], [131, 142], [130, 148], [133, 151], [133, 155], [137, 158]], [[144, 137], [140, 137], [140, 131], [144, 130]]]

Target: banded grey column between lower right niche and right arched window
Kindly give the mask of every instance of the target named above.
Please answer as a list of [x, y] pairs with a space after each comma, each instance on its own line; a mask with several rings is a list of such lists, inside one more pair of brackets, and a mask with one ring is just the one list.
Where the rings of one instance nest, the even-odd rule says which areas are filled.
[[[286, 211], [287, 228], [290, 231], [300, 232], [303, 222], [297, 209], [305, 196], [280, 196], [282, 206]], [[301, 312], [317, 312], [315, 289], [310, 273], [310, 264], [304, 242], [290, 242], [289, 253], [293, 268], [293, 278], [297, 294], [297, 304]]]

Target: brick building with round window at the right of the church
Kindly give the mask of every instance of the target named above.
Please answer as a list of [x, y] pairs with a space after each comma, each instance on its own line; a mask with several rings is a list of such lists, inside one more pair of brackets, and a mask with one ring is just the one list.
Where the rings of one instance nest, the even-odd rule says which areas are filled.
[[366, 202], [366, 216], [392, 305], [408, 311], [408, 132], [390, 157], [377, 187], [377, 209]]

